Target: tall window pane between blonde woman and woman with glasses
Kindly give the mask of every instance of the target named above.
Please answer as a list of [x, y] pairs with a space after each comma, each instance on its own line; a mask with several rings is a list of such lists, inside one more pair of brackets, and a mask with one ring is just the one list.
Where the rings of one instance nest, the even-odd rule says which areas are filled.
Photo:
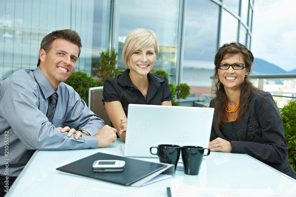
[[217, 48], [219, 9], [219, 5], [212, 1], [187, 1], [181, 81], [189, 84], [191, 93], [195, 96], [210, 94], [210, 77], [214, 73], [213, 56]]

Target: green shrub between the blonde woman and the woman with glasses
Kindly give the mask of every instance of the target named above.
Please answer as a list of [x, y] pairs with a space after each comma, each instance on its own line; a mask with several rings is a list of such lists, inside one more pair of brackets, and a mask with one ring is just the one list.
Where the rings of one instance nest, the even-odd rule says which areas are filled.
[[152, 71], [151, 73], [168, 77], [168, 83], [169, 83], [170, 91], [171, 91], [172, 97], [173, 97], [173, 100], [172, 100], [173, 106], [179, 106], [180, 102], [178, 102], [178, 100], [179, 99], [186, 99], [190, 95], [190, 87], [188, 84], [181, 83], [181, 84], [178, 84], [175, 86], [174, 84], [169, 82], [168, 73], [165, 72], [164, 70], [156, 70], [156, 71]]

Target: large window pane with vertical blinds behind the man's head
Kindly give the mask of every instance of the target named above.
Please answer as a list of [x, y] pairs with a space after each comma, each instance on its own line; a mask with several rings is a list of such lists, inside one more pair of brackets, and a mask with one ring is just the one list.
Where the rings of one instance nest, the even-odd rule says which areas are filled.
[[0, 7], [7, 8], [0, 18], [1, 79], [19, 69], [35, 69], [44, 36], [69, 28], [79, 33], [83, 46], [75, 70], [91, 73], [92, 53], [98, 57], [102, 49], [108, 48], [109, 0], [16, 2], [0, 1]]

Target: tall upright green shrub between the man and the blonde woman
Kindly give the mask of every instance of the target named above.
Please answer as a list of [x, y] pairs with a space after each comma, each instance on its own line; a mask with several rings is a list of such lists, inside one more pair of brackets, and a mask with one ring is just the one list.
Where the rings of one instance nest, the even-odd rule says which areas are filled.
[[113, 78], [120, 74], [118, 68], [115, 67], [117, 64], [116, 57], [118, 52], [112, 48], [111, 54], [109, 54], [109, 49], [107, 51], [102, 51], [100, 53], [101, 61], [96, 64], [96, 76], [98, 77], [99, 84], [98, 86], [103, 86], [104, 82], [108, 78]]

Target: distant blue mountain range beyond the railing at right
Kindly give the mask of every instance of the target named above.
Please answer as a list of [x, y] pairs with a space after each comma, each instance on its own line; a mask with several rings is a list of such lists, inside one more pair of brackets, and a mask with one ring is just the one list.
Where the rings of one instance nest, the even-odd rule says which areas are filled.
[[291, 71], [285, 71], [279, 66], [271, 64], [260, 58], [254, 58], [254, 63], [252, 65], [252, 74], [289, 74], [296, 73], [296, 69]]

